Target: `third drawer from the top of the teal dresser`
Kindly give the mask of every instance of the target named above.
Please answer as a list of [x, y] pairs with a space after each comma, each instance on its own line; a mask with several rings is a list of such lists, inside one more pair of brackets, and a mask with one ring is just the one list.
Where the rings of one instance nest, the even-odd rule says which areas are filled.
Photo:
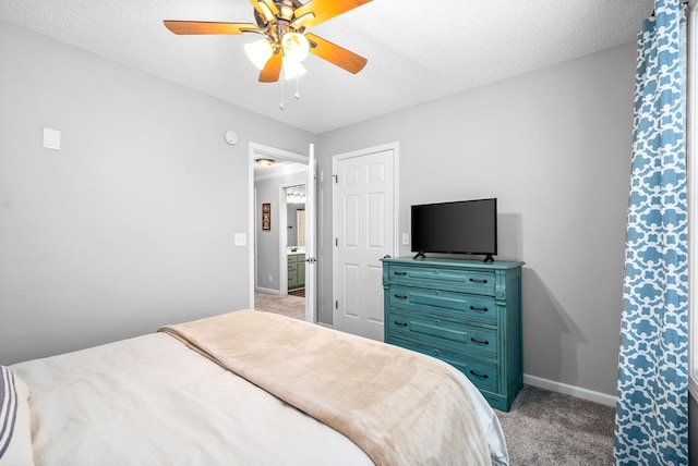
[[402, 339], [443, 346], [453, 352], [467, 352], [484, 358], [497, 359], [496, 330], [465, 326], [459, 322], [424, 315], [390, 312], [388, 332]]

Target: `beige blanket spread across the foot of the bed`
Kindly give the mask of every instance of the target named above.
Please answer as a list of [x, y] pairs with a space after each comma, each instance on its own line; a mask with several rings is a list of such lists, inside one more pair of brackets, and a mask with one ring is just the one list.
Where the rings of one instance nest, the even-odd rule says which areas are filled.
[[160, 331], [344, 433], [377, 465], [491, 464], [470, 398], [436, 359], [253, 310]]

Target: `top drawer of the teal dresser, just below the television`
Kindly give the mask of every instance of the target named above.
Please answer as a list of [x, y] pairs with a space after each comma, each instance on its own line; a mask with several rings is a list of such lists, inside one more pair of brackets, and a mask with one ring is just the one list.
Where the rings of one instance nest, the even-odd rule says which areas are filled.
[[388, 283], [408, 286], [435, 286], [467, 293], [494, 295], [494, 273], [438, 267], [390, 266]]

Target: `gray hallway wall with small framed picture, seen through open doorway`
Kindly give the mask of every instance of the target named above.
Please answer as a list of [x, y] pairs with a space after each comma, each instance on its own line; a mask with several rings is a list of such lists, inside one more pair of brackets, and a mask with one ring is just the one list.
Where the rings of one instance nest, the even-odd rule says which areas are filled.
[[[256, 191], [256, 218], [262, 219], [262, 204], [269, 203], [272, 205], [272, 230], [262, 230], [262, 221], [257, 221], [256, 230], [256, 274], [257, 287], [273, 291], [280, 291], [279, 283], [279, 234], [287, 234], [288, 229], [281, 225], [280, 209], [286, 205], [279, 206], [279, 189], [288, 184], [304, 184], [306, 173], [298, 172], [284, 174], [279, 176], [265, 177], [254, 183]], [[272, 281], [269, 281], [269, 277]]]

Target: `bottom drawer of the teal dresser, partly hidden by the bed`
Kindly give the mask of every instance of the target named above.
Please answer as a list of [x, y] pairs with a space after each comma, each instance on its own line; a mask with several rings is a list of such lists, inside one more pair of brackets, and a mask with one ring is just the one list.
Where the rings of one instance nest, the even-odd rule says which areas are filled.
[[410, 340], [400, 339], [399, 336], [389, 335], [387, 343], [446, 361], [465, 373], [466, 377], [479, 389], [494, 392], [497, 390], [497, 365], [494, 363], [488, 364], [486, 361], [473, 360], [447, 348], [445, 350], [435, 345], [417, 343]]

